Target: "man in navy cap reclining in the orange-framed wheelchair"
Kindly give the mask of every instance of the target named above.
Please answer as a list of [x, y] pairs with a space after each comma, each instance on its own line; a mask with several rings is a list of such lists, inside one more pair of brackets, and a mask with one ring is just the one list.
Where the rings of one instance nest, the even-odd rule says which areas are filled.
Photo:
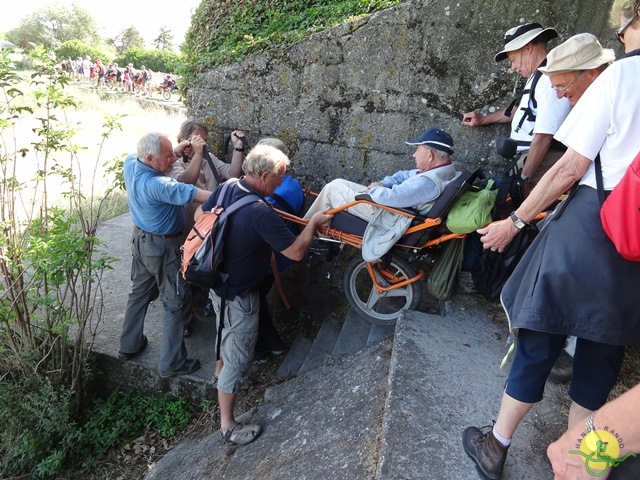
[[[401, 170], [368, 187], [338, 178], [326, 184], [304, 218], [316, 212], [354, 201], [360, 193], [368, 193], [371, 199], [389, 207], [413, 207], [426, 213], [440, 196], [444, 187], [458, 173], [451, 162], [453, 139], [444, 130], [429, 128], [416, 140], [406, 142], [416, 147], [413, 158], [416, 168]], [[360, 204], [348, 212], [370, 221], [379, 209]]]

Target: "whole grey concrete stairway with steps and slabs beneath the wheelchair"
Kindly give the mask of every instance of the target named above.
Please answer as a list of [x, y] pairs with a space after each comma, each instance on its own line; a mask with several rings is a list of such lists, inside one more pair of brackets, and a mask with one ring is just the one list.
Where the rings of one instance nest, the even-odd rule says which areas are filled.
[[[313, 341], [295, 341], [278, 371], [286, 381], [244, 415], [263, 427], [260, 438], [237, 448], [217, 433], [186, 440], [145, 478], [479, 478], [460, 438], [497, 412], [506, 376], [502, 322], [465, 295], [443, 315], [406, 312], [395, 329], [354, 313], [341, 327], [327, 320]], [[545, 451], [566, 425], [565, 389], [547, 387], [518, 430], [503, 479], [553, 478]]]

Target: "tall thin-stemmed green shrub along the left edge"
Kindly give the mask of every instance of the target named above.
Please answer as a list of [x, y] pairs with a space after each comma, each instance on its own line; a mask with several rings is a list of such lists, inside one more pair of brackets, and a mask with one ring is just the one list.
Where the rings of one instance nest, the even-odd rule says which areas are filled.
[[[95, 236], [109, 193], [96, 198], [80, 190], [83, 147], [64, 120], [76, 107], [64, 91], [70, 78], [41, 46], [30, 56], [33, 106], [0, 52], [2, 478], [53, 478], [63, 467], [102, 317], [102, 273], [113, 261]], [[21, 120], [33, 124], [35, 141], [16, 137]], [[118, 119], [107, 118], [102, 142], [117, 129]], [[37, 172], [33, 178], [20, 176], [17, 165], [25, 162]], [[50, 193], [58, 187], [64, 208]]]

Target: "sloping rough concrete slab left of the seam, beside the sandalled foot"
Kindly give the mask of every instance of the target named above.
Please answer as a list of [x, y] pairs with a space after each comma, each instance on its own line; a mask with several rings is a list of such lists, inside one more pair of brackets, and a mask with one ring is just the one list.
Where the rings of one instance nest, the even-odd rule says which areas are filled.
[[268, 389], [251, 419], [261, 437], [237, 448], [215, 478], [375, 479], [390, 356], [390, 342], [378, 344]]

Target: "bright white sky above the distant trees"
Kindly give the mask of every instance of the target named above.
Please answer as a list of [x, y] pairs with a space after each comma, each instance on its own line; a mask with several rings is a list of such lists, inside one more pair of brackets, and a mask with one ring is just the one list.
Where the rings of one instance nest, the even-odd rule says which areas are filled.
[[[1, 0], [4, 3], [0, 14], [0, 32], [6, 32], [20, 25], [20, 20], [43, 5], [54, 0]], [[142, 34], [147, 48], [151, 48], [160, 28], [166, 26], [173, 34], [177, 46], [191, 24], [191, 15], [200, 0], [58, 0], [61, 3], [76, 3], [91, 12], [102, 28], [105, 37], [114, 37], [125, 28], [134, 25]], [[10, 3], [11, 6], [6, 4]]]

